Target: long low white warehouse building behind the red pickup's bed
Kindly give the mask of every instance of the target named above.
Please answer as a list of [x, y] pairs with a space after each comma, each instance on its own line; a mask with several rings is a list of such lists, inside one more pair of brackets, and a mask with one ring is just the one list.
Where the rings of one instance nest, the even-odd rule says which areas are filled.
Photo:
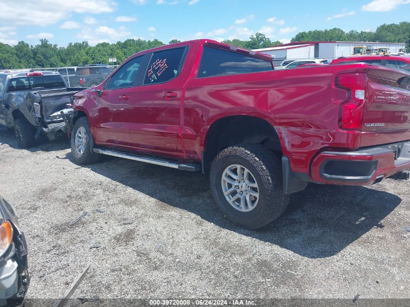
[[271, 48], [254, 49], [272, 55], [275, 62], [284, 59], [323, 58], [331, 61], [339, 57], [354, 54], [355, 48], [363, 48], [363, 53], [369, 54], [379, 48], [387, 48], [388, 53], [398, 53], [406, 48], [405, 43], [374, 43], [374, 42], [294, 42]]

